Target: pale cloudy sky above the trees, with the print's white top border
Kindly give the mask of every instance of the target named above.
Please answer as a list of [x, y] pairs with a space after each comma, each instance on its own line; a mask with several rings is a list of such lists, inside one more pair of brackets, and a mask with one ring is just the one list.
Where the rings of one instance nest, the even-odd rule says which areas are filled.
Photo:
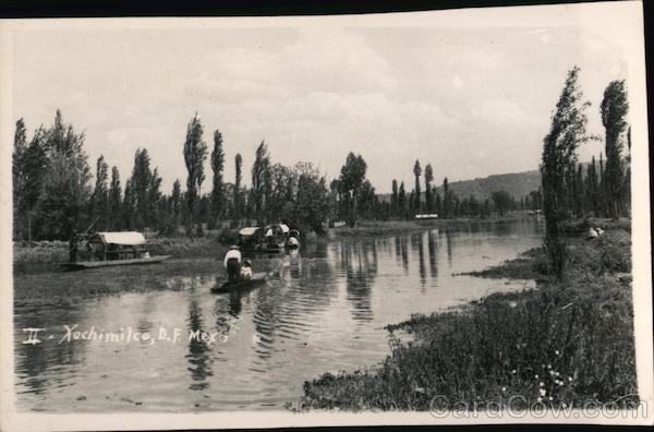
[[[272, 161], [312, 161], [330, 179], [349, 152], [378, 192], [536, 169], [567, 71], [581, 68], [589, 132], [627, 80], [638, 2], [334, 17], [32, 21], [11, 32], [13, 121], [28, 131], [56, 110], [86, 134], [124, 184], [147, 148], [169, 193], [186, 170], [186, 124], [198, 113], [225, 179], [241, 153], [244, 181], [265, 140]], [[642, 28], [640, 34], [642, 35]], [[600, 155], [595, 142], [580, 159]], [[95, 169], [95, 168], [94, 168]], [[203, 191], [210, 188], [211, 173]]]

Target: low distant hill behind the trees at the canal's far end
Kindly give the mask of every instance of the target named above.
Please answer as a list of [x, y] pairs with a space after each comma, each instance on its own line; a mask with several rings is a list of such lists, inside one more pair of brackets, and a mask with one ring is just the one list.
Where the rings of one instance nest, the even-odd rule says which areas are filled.
[[[520, 200], [528, 195], [531, 191], [535, 191], [541, 187], [541, 171], [524, 171], [506, 175], [494, 175], [483, 179], [452, 181], [449, 188], [456, 195], [463, 199], [473, 195], [477, 200], [491, 199], [491, 194], [496, 191], [507, 191], [509, 195]], [[424, 185], [423, 185], [424, 188]], [[438, 187], [438, 193], [443, 196], [443, 185]], [[411, 190], [407, 190], [409, 194]], [[423, 191], [424, 194], [424, 191]], [[384, 202], [390, 201], [389, 193], [379, 194], [379, 200]]]

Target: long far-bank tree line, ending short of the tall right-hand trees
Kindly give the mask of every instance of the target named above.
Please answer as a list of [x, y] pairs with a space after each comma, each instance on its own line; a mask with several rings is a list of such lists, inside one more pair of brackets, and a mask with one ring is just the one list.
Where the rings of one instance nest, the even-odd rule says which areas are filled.
[[[327, 220], [387, 220], [412, 218], [422, 211], [444, 217], [488, 216], [492, 212], [516, 209], [518, 202], [506, 192], [493, 200], [474, 196], [460, 200], [444, 181], [441, 199], [432, 185], [429, 165], [425, 168], [425, 201], [420, 192], [420, 163], [414, 173], [415, 189], [408, 195], [402, 183], [392, 183], [389, 202], [379, 200], [366, 179], [367, 164], [350, 153], [338, 178], [327, 183], [311, 163], [284, 166], [274, 163], [265, 142], [255, 152], [250, 188], [243, 184], [243, 158], [233, 158], [235, 176], [226, 181], [227, 163], [222, 134], [213, 133], [213, 148], [205, 141], [205, 129], [197, 113], [186, 127], [182, 156], [185, 184], [175, 179], [172, 190], [161, 190], [161, 176], [153, 166], [147, 148], [137, 148], [131, 173], [121, 178], [117, 166], [104, 156], [92, 169], [84, 149], [85, 135], [64, 122], [57, 110], [50, 127], [39, 127], [31, 139], [24, 119], [16, 122], [13, 148], [13, 235], [16, 240], [66, 239], [74, 232], [94, 230], [152, 229], [164, 235], [203, 235], [231, 223], [284, 221], [302, 230], [320, 232]], [[205, 161], [209, 159], [211, 183], [206, 187]], [[123, 183], [124, 182], [124, 183]], [[123, 187], [124, 184], [124, 187]], [[522, 202], [520, 203], [522, 207]]]

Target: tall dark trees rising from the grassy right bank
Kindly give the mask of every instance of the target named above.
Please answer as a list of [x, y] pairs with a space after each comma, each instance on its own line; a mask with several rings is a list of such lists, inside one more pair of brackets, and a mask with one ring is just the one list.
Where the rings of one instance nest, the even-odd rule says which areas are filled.
[[558, 278], [564, 276], [567, 262], [566, 244], [561, 239], [561, 225], [566, 219], [581, 216], [586, 211], [615, 219], [630, 212], [631, 132], [627, 121], [629, 103], [625, 81], [609, 83], [604, 92], [600, 113], [605, 129], [606, 164], [601, 156], [597, 171], [593, 158], [584, 178], [583, 168], [577, 163], [577, 149], [600, 139], [586, 134], [585, 110], [591, 104], [583, 99], [578, 84], [579, 72], [577, 67], [568, 72], [552, 127], [543, 142], [544, 247]]

